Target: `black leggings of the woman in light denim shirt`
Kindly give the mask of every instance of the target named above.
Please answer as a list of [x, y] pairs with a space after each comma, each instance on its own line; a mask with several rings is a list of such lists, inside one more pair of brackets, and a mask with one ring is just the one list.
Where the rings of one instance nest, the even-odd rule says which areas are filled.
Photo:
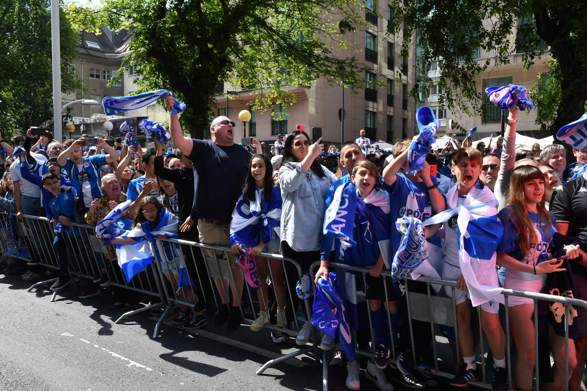
[[[291, 247], [289, 247], [289, 244], [287, 244], [287, 242], [285, 242], [285, 241], [281, 242], [281, 249], [282, 249], [281, 255], [283, 255], [284, 257], [291, 258], [294, 261], [298, 262], [298, 264], [302, 268], [302, 272], [309, 270], [310, 265], [312, 265], [313, 262], [320, 260], [320, 251], [319, 250], [295, 251]], [[298, 283], [299, 273], [298, 273], [298, 269], [291, 262], [286, 261], [285, 267], [286, 267], [287, 276], [288, 276], [286, 286], [288, 288], [288, 291], [291, 292], [291, 295], [292, 295], [292, 302], [290, 303], [291, 305], [286, 306], [285, 311], [287, 314], [288, 322], [291, 322], [291, 321], [295, 320], [295, 318], [296, 318], [295, 312], [296, 312], [296, 309], [298, 309], [298, 305], [301, 302], [301, 300], [299, 299], [298, 295], [295, 292], [295, 285]], [[310, 274], [310, 279], [312, 280], [311, 282], [313, 284], [314, 278], [312, 277], [312, 274]], [[289, 293], [286, 294], [286, 300], [289, 301]], [[308, 299], [308, 302], [309, 302], [310, 309], [312, 309], [312, 304], [314, 302], [313, 296], [310, 296], [310, 298]], [[302, 303], [302, 310], [303, 310], [303, 314], [306, 316], [306, 320], [309, 321], [312, 314], [308, 314], [304, 303]]]

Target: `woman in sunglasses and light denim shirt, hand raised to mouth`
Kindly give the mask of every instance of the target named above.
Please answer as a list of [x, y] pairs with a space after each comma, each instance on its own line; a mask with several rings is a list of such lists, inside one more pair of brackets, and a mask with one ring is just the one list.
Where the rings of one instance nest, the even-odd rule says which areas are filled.
[[[281, 254], [294, 259], [302, 271], [307, 271], [312, 262], [320, 259], [326, 192], [330, 184], [336, 181], [333, 173], [315, 161], [324, 148], [321, 141], [322, 137], [312, 144], [308, 134], [301, 130], [289, 134], [282, 149], [284, 160], [278, 174], [283, 200]], [[296, 276], [298, 272], [292, 268], [288, 272], [288, 278], [294, 281], [289, 281], [289, 286], [296, 285]], [[302, 290], [311, 289], [305, 284], [302, 285]], [[303, 295], [303, 292], [301, 294]], [[299, 300], [297, 295], [292, 296], [294, 302], [290, 319], [295, 319]], [[302, 305], [302, 309], [306, 312], [305, 305]], [[306, 314], [306, 323], [298, 332], [298, 345], [305, 345], [310, 339], [309, 315]], [[333, 346], [332, 343], [330, 346]]]

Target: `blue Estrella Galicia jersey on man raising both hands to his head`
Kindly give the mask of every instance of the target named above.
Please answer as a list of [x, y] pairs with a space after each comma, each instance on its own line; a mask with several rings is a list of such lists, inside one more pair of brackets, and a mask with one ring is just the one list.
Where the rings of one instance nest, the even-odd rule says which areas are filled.
[[[100, 198], [104, 193], [102, 190], [102, 177], [100, 176], [100, 167], [106, 165], [106, 155], [99, 154], [94, 156], [85, 156], [82, 164], [75, 164], [68, 157], [63, 168], [72, 186], [77, 194], [83, 194], [83, 201], [86, 207], [92, 204], [94, 198]], [[82, 186], [83, 183], [83, 186]]]

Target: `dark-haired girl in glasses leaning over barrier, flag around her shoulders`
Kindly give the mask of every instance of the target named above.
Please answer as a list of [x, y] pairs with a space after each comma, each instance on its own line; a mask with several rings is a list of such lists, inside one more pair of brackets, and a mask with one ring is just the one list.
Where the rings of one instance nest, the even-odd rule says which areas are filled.
[[[133, 235], [133, 231], [142, 232]], [[187, 270], [185, 270], [185, 261], [179, 245], [162, 241], [169, 237], [167, 235], [156, 234], [156, 232], [162, 231], [169, 232], [173, 235], [172, 237], [177, 238], [177, 218], [164, 208], [157, 198], [149, 195], [142, 198], [139, 202], [138, 211], [133, 218], [133, 230], [128, 232], [127, 236], [114, 238], [110, 242], [120, 245], [132, 245], [141, 240], [154, 240], [152, 248], [157, 252], [161, 272], [173, 286], [173, 291], [177, 292], [178, 298], [197, 304], [198, 299], [194, 297], [195, 295], [191, 290], [191, 282], [185, 285], [185, 281], [183, 281], [178, 288], [178, 285], [180, 285], [180, 269], [183, 269], [187, 273]], [[120, 259], [120, 261], [124, 262], [125, 259]], [[185, 279], [182, 278], [182, 280]], [[188, 330], [203, 327], [206, 324], [204, 313], [202, 311], [195, 311], [195, 309], [193, 311], [194, 314], [190, 316], [188, 315], [188, 307], [186, 305], [179, 305], [179, 313], [176, 314], [175, 319], [171, 323], [174, 325], [185, 323], [183, 327]]]

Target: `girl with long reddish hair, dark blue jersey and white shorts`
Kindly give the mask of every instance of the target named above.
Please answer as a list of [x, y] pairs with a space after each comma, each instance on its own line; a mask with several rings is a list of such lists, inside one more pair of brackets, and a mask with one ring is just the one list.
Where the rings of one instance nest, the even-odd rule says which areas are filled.
[[[505, 207], [498, 213], [504, 235], [497, 248], [497, 264], [509, 269], [504, 288], [541, 292], [546, 274], [559, 269], [563, 259], [554, 258], [551, 250], [556, 233], [556, 218], [544, 205], [544, 174], [534, 166], [515, 168]], [[579, 250], [565, 245], [569, 259], [577, 258]], [[535, 366], [534, 299], [508, 297], [510, 325], [517, 353], [515, 385], [517, 390], [532, 390]], [[576, 364], [575, 343], [569, 338], [569, 372], [565, 375], [565, 338], [555, 334], [549, 325], [549, 341], [554, 357], [554, 382], [547, 389], [564, 389]]]

